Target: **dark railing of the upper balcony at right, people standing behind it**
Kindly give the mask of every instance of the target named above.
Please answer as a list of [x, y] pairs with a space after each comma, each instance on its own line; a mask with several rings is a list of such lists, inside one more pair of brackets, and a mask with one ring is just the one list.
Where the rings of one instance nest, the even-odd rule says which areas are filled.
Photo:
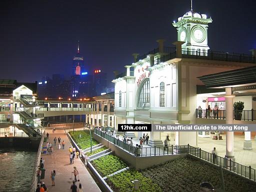
[[[216, 118], [225, 119], [226, 110], [208, 110], [196, 109], [196, 118]], [[233, 119], [235, 120], [256, 120], [256, 110], [233, 110]]]

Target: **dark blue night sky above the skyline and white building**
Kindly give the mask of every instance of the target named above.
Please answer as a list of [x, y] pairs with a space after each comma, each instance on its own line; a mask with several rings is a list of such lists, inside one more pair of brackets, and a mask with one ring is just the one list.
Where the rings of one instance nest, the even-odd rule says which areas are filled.
[[[256, 48], [255, 0], [193, 0], [211, 16], [211, 50], [249, 53]], [[0, 0], [0, 79], [32, 82], [55, 73], [71, 75], [77, 40], [87, 71], [113, 79], [132, 53], [177, 40], [172, 21], [190, 0]]]

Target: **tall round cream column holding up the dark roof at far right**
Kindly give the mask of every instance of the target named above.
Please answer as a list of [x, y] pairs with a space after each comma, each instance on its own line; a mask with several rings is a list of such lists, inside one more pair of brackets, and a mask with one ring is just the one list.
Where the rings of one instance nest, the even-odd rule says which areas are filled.
[[[233, 97], [231, 87], [225, 88], [226, 94], [226, 124], [233, 124]], [[226, 131], [226, 158], [234, 161], [234, 132]]]

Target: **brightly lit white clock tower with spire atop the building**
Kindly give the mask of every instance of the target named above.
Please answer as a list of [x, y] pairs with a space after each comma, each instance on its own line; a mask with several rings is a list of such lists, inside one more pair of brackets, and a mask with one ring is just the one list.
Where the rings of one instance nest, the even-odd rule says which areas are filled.
[[208, 47], [207, 27], [212, 22], [211, 18], [207, 18], [206, 14], [200, 14], [192, 9], [183, 16], [178, 17], [177, 22], [172, 25], [177, 28], [178, 41], [184, 41], [181, 48], [191, 49], [190, 51], [200, 51], [206, 54]]

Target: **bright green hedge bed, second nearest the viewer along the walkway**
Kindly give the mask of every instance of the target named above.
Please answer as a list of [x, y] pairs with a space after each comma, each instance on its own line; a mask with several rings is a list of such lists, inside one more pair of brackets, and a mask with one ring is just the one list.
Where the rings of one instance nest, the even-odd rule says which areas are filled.
[[127, 164], [123, 162], [119, 157], [112, 154], [95, 159], [91, 162], [91, 164], [102, 177], [127, 166]]

